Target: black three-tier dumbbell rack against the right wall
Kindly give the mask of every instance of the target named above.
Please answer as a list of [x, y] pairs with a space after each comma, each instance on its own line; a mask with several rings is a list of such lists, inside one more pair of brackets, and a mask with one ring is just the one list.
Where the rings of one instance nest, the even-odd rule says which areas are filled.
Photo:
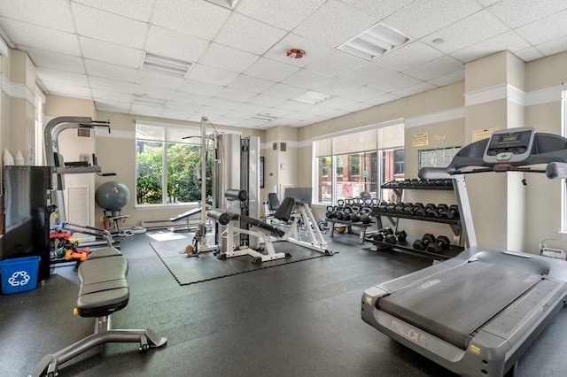
[[[396, 194], [396, 196], [401, 199], [403, 195], [404, 189], [423, 189], [423, 190], [453, 190], [453, 183], [449, 180], [443, 181], [419, 181], [419, 184], [411, 184], [408, 181], [391, 181], [384, 183], [382, 188], [391, 188], [392, 191]], [[393, 226], [394, 232], [398, 230], [398, 224], [400, 219], [411, 219], [416, 221], [429, 221], [435, 222], [440, 224], [447, 224], [453, 232], [454, 235], [454, 242], [457, 244], [462, 244], [462, 222], [460, 218], [456, 219], [441, 219], [441, 218], [432, 218], [427, 216], [416, 216], [416, 215], [409, 215], [405, 213], [392, 213], [392, 212], [378, 212], [373, 211], [372, 216], [376, 217], [377, 219], [386, 218], [388, 219]], [[462, 246], [451, 245], [450, 249], [442, 250], [439, 253], [431, 252], [427, 250], [416, 250], [413, 247], [414, 242], [416, 241], [416, 237], [412, 237], [408, 235], [405, 241], [400, 241], [397, 243], [388, 243], [384, 241], [376, 241], [374, 239], [368, 238], [367, 241], [372, 242], [376, 247], [376, 250], [386, 250], [386, 249], [398, 249], [398, 250], [406, 250], [416, 254], [427, 255], [432, 258], [436, 259], [450, 259], [456, 257], [458, 254], [461, 253], [464, 248]]]

